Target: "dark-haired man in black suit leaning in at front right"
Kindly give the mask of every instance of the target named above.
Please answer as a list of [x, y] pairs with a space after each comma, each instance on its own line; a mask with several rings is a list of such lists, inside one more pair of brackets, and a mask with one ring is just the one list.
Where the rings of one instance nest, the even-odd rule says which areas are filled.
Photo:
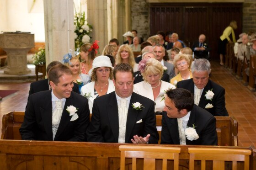
[[167, 90], [161, 144], [217, 145], [216, 119], [186, 89]]

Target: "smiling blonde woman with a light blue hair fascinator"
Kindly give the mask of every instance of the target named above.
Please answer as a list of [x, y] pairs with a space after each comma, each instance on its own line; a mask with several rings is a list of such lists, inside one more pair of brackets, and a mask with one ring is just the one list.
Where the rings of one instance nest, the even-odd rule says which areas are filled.
[[[68, 58], [67, 58], [67, 55], [68, 55]], [[66, 54], [64, 55], [63, 62], [64, 62], [64, 65], [68, 66], [69, 69], [72, 71], [73, 80], [76, 84], [79, 85], [79, 91], [81, 90], [81, 87], [83, 85], [90, 83], [91, 77], [88, 74], [81, 73], [80, 62], [78, 58], [72, 57], [70, 54]]]

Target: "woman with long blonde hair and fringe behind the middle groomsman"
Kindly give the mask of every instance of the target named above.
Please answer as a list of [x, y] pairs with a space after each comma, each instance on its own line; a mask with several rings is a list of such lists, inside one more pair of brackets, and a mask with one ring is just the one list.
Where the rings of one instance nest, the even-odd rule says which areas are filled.
[[123, 44], [117, 52], [116, 64], [128, 63], [133, 67], [133, 72], [138, 71], [138, 64], [135, 62], [133, 50], [129, 45]]

